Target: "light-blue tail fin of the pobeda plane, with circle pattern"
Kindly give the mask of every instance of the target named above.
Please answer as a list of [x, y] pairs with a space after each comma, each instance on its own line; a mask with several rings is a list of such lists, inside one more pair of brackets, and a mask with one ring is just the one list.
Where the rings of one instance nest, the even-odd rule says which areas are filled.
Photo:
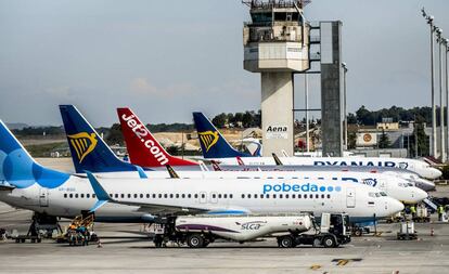
[[68, 178], [68, 174], [37, 164], [7, 126], [0, 121], [0, 180], [17, 188], [26, 188], [35, 183], [54, 188], [62, 185]]

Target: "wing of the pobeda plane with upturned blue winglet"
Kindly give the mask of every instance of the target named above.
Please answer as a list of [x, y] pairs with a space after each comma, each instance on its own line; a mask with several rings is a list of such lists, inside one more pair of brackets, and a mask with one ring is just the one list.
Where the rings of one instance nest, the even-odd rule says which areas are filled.
[[87, 171], [87, 175], [89, 181], [92, 185], [93, 192], [99, 199], [97, 204], [90, 209], [91, 212], [94, 212], [100, 207], [105, 205], [106, 203], [126, 205], [126, 206], [137, 206], [140, 207], [139, 211], [149, 212], [151, 214], [201, 214], [201, 213], [211, 213], [211, 214], [231, 214], [231, 213], [248, 213], [247, 210], [241, 208], [233, 208], [233, 209], [221, 209], [221, 208], [200, 208], [200, 207], [180, 207], [174, 205], [165, 205], [165, 204], [152, 204], [146, 201], [131, 201], [131, 200], [117, 200], [111, 197], [107, 192], [103, 188], [101, 183], [97, 180], [97, 178]]

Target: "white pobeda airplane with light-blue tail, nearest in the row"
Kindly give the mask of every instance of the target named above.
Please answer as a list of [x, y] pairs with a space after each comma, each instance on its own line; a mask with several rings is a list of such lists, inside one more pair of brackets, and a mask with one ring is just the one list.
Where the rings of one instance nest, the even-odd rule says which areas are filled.
[[[151, 221], [154, 216], [196, 213], [346, 212], [373, 221], [403, 209], [379, 190], [309, 179], [104, 179], [89, 180], [37, 164], [0, 121], [0, 200], [39, 213], [97, 221]], [[110, 203], [108, 203], [110, 201]], [[107, 205], [106, 205], [107, 204]]]

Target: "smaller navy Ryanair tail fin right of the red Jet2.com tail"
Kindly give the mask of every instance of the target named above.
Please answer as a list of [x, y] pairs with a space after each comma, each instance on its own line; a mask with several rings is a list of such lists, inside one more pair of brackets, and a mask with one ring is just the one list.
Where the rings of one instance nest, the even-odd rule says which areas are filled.
[[193, 113], [204, 158], [252, 157], [234, 149], [202, 113]]

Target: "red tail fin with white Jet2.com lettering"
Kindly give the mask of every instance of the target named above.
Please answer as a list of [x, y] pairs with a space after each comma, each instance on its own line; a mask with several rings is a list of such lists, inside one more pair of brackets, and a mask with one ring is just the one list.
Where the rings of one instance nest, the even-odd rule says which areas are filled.
[[117, 108], [117, 114], [131, 164], [141, 167], [197, 165], [169, 155], [128, 107]]

